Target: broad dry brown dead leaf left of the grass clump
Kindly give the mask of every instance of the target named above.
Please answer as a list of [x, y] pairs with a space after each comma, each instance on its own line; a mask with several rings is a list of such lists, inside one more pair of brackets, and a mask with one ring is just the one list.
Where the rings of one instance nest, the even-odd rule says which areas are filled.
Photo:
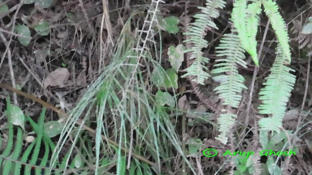
[[63, 88], [69, 75], [69, 71], [66, 68], [58, 68], [53, 72], [50, 72], [50, 74], [44, 79], [44, 88], [47, 88], [48, 86], [59, 86], [59, 88]]

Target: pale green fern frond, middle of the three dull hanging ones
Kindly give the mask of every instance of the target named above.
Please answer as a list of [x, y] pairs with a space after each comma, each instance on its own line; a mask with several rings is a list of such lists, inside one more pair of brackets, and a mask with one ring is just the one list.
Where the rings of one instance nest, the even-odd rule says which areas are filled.
[[223, 73], [223, 82], [214, 89], [219, 98], [224, 100], [222, 105], [226, 105], [218, 117], [218, 124], [220, 125], [220, 134], [215, 139], [220, 140], [226, 144], [228, 137], [226, 134], [230, 131], [235, 123], [236, 114], [232, 108], [237, 108], [242, 98], [241, 92], [247, 89], [244, 85], [245, 78], [238, 73], [237, 65], [247, 67], [245, 59], [245, 51], [242, 48], [238, 35], [234, 33], [225, 34], [220, 40], [220, 44], [216, 47], [217, 56], [225, 56], [222, 59], [216, 59], [215, 70], [212, 73]]

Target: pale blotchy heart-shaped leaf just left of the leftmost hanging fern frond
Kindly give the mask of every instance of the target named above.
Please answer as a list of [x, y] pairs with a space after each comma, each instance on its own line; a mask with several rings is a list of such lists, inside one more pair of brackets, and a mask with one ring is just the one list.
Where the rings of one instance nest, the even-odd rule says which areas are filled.
[[170, 46], [168, 49], [169, 62], [171, 67], [178, 72], [182, 62], [184, 60], [185, 47], [182, 44], [175, 46]]

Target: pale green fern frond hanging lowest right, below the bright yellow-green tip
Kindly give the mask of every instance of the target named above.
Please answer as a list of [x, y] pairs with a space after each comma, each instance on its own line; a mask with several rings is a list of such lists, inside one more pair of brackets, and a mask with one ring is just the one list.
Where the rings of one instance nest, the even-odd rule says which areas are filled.
[[271, 74], [264, 83], [265, 87], [259, 92], [259, 99], [263, 102], [258, 109], [260, 109], [260, 114], [272, 115], [270, 118], [263, 118], [259, 121], [260, 128], [279, 132], [296, 76], [290, 73], [295, 70], [284, 65], [288, 57], [283, 54], [282, 46], [278, 45], [276, 50], [278, 56], [271, 68]]

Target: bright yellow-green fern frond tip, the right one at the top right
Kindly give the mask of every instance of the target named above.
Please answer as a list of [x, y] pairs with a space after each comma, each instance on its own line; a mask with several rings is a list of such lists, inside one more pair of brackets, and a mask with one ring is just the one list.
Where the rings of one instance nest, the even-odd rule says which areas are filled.
[[270, 19], [272, 28], [277, 36], [278, 43], [283, 51], [284, 56], [286, 56], [285, 62], [291, 62], [291, 50], [289, 46], [289, 36], [286, 28], [286, 23], [283, 17], [278, 12], [278, 6], [276, 2], [272, 0], [262, 0], [264, 6], [264, 12]]

